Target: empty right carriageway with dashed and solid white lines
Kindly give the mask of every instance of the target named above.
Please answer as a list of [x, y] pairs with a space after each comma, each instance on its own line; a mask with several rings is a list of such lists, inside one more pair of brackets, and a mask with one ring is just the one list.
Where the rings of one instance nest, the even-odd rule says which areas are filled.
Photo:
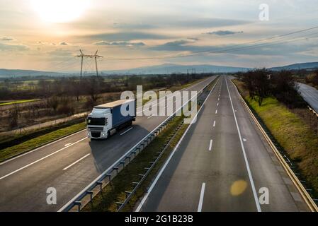
[[[268, 191], [266, 196], [261, 196]], [[261, 192], [261, 193], [260, 193]], [[261, 197], [262, 202], [259, 202]], [[265, 198], [264, 198], [265, 197]], [[136, 211], [308, 211], [222, 76]]]

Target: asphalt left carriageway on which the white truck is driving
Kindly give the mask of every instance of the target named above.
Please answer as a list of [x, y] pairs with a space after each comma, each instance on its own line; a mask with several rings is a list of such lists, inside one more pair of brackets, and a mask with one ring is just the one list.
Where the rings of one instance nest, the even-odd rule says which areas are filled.
[[[214, 79], [185, 90], [199, 91]], [[59, 210], [166, 118], [137, 117], [131, 128], [106, 141], [90, 141], [80, 131], [0, 163], [0, 212]], [[56, 205], [47, 204], [50, 187], [57, 190]]]

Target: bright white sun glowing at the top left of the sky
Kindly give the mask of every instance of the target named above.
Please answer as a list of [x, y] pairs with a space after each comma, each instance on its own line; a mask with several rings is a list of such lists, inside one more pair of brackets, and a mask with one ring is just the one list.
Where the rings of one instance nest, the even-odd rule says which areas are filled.
[[89, 0], [32, 0], [36, 13], [50, 23], [67, 23], [78, 19], [88, 7]]

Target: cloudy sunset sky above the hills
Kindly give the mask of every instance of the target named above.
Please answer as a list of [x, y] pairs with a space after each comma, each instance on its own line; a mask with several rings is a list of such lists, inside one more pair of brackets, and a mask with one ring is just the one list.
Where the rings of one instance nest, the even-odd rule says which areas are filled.
[[[259, 5], [268, 4], [268, 21]], [[118, 60], [222, 50], [318, 26], [317, 0], [1, 0], [0, 68], [79, 70], [79, 49], [116, 60], [102, 70], [157, 64], [280, 66], [318, 61], [318, 29], [298, 42], [175, 59]], [[312, 35], [310, 35], [312, 34]], [[85, 64], [89, 71], [92, 66]]]

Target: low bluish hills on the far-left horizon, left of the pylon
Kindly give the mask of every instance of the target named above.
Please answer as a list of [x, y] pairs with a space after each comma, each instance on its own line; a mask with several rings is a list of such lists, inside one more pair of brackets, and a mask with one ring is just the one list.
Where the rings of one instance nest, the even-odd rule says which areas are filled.
[[63, 76], [66, 73], [33, 70], [0, 69], [0, 77], [25, 77], [25, 76]]

